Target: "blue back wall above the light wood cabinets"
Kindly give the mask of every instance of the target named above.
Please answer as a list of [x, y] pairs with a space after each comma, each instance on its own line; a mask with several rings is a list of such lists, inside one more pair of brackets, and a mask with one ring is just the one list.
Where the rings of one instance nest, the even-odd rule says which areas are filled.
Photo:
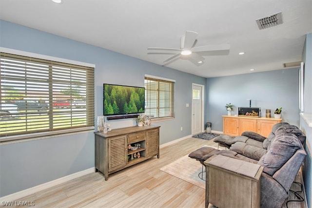
[[223, 131], [222, 115], [226, 115], [225, 104], [232, 103], [232, 114], [238, 114], [238, 107], [261, 108], [265, 110], [282, 107], [284, 122], [299, 126], [298, 98], [299, 69], [283, 69], [269, 72], [250, 73], [235, 76], [222, 76], [207, 79], [207, 120], [212, 122], [212, 129]]

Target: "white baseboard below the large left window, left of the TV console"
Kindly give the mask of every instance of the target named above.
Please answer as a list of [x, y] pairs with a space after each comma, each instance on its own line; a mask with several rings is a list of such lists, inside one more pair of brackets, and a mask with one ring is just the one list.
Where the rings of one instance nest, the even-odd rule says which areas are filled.
[[53, 180], [53, 181], [50, 181], [50, 182], [47, 182], [47, 183], [44, 183], [44, 184], [40, 184], [38, 186], [29, 188], [29, 189], [21, 190], [19, 192], [12, 193], [10, 195], [3, 196], [3, 197], [0, 198], [0, 202], [14, 201], [14, 200], [20, 199], [22, 197], [28, 196], [30, 194], [36, 193], [36, 192], [38, 192], [40, 190], [54, 187], [54, 186], [59, 185], [61, 183], [65, 183], [67, 181], [73, 180], [75, 178], [81, 177], [83, 175], [86, 175], [86, 174], [89, 174], [89, 173], [92, 173], [92, 172], [95, 172], [95, 167], [89, 168], [87, 170], [82, 170], [80, 172], [75, 172], [73, 174], [66, 175], [64, 177], [58, 178], [56, 180]]

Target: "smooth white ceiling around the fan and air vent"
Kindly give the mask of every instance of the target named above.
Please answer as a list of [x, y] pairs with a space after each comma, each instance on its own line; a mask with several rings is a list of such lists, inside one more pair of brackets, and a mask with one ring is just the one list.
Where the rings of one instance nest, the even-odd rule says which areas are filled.
[[[277, 12], [283, 24], [259, 30], [255, 19]], [[159, 65], [172, 55], [148, 54], [148, 47], [179, 48], [180, 37], [195, 31], [195, 46], [228, 43], [229, 53], [202, 53], [201, 66], [185, 59], [166, 66], [215, 77], [301, 61], [312, 0], [0, 0], [0, 19]]]

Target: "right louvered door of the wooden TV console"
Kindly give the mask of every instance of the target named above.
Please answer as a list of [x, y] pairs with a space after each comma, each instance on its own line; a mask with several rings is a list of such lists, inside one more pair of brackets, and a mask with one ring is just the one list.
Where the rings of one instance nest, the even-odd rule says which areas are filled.
[[155, 155], [159, 158], [159, 129], [146, 132], [146, 157]]

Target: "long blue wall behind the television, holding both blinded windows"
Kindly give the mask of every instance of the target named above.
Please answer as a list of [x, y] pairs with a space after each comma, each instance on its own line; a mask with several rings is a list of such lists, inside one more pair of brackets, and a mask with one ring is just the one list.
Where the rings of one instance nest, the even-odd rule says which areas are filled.
[[[95, 64], [95, 116], [103, 114], [103, 83], [144, 87], [145, 74], [175, 79], [176, 119], [154, 123], [161, 126], [160, 144], [192, 133], [192, 108], [185, 104], [192, 104], [192, 83], [205, 85], [206, 78], [2, 20], [0, 47]], [[120, 128], [134, 121], [110, 124]], [[2, 144], [0, 197], [92, 168], [94, 154], [93, 131]]]

